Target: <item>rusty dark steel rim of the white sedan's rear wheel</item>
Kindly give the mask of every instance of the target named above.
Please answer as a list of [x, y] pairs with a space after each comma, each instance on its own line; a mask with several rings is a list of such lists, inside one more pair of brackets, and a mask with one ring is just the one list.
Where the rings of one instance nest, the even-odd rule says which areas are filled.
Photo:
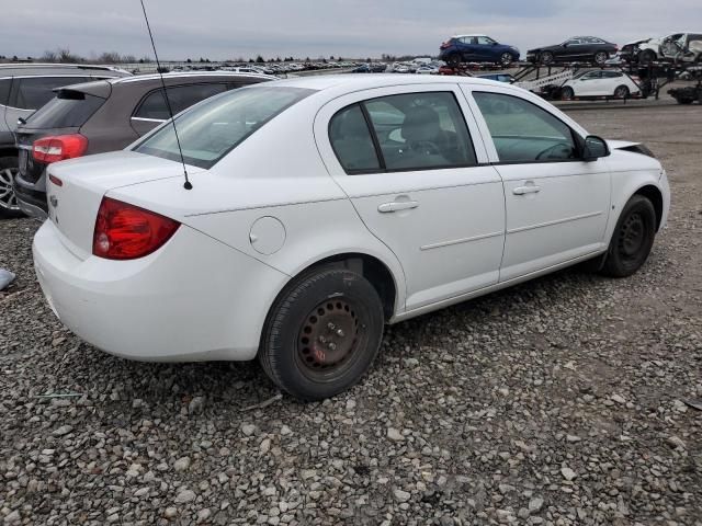
[[348, 371], [367, 344], [367, 320], [351, 298], [320, 301], [304, 319], [295, 361], [314, 381], [333, 381]]

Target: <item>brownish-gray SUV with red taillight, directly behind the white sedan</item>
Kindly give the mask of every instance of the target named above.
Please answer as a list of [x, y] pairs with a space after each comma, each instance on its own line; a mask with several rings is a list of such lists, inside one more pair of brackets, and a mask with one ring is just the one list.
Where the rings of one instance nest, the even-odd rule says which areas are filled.
[[[225, 91], [274, 79], [257, 73], [182, 72], [163, 76], [173, 113]], [[145, 75], [58, 90], [56, 98], [16, 130], [20, 209], [46, 218], [46, 167], [64, 159], [114, 151], [169, 118], [161, 78]]]

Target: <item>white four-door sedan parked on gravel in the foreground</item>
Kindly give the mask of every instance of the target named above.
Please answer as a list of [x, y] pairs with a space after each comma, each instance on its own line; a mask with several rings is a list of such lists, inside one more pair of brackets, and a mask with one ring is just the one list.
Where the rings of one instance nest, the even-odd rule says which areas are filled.
[[519, 88], [329, 76], [208, 99], [124, 151], [52, 164], [34, 239], [44, 294], [101, 350], [140, 361], [258, 356], [330, 397], [395, 323], [591, 260], [646, 261], [669, 187]]

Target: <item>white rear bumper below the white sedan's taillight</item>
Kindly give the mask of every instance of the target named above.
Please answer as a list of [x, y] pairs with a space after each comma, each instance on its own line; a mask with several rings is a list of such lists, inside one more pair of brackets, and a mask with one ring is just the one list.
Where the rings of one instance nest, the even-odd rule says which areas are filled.
[[67, 244], [46, 221], [32, 247], [52, 309], [87, 342], [137, 361], [253, 358], [271, 297], [287, 279], [184, 225], [139, 260], [81, 260]]

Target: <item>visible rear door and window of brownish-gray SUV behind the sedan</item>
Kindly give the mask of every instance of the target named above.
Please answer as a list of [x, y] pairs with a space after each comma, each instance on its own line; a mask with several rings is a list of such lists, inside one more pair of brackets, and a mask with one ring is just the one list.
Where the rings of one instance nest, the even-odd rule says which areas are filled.
[[[227, 91], [225, 82], [201, 82], [188, 85], [171, 85], [166, 89], [170, 110], [178, 115], [193, 104], [213, 95]], [[157, 88], [141, 99], [132, 115], [132, 127], [139, 135], [145, 135], [159, 124], [170, 118], [169, 107], [163, 96], [163, 89]]]

